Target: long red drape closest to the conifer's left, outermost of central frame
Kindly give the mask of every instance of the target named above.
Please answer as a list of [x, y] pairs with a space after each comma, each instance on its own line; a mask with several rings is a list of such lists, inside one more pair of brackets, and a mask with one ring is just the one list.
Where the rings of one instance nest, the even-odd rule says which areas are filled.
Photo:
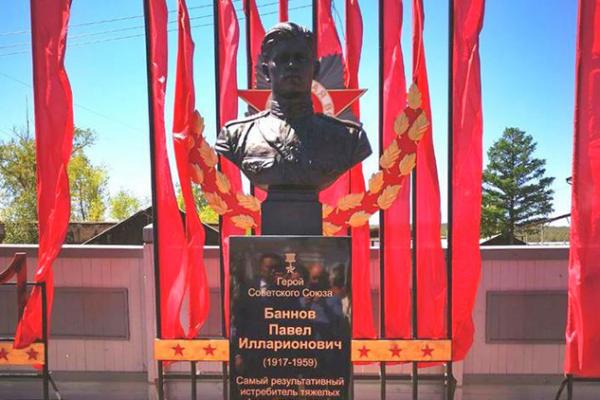
[[453, 166], [452, 166], [452, 315], [454, 360], [465, 358], [473, 343], [471, 313], [477, 294], [481, 256], [482, 130], [479, 33], [484, 0], [454, 5]]

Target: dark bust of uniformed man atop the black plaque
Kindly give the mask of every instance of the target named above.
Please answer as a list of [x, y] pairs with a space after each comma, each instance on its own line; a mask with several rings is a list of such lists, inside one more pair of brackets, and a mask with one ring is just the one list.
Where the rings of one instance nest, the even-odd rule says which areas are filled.
[[[309, 30], [276, 25], [263, 39], [261, 60], [271, 84], [271, 109], [227, 123], [216, 150], [268, 191], [267, 202], [285, 200], [293, 207], [304, 201], [298, 196], [315, 198], [368, 157], [371, 147], [360, 124], [313, 112], [311, 85], [319, 63]], [[319, 212], [319, 226], [320, 218]]]

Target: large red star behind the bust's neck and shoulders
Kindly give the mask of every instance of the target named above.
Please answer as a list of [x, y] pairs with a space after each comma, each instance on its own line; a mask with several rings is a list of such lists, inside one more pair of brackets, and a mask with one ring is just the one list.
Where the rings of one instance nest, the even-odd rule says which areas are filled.
[[[337, 117], [358, 100], [366, 89], [327, 89], [319, 81], [312, 84], [312, 99], [315, 112]], [[264, 111], [271, 106], [269, 89], [238, 90], [238, 96], [256, 111]]]

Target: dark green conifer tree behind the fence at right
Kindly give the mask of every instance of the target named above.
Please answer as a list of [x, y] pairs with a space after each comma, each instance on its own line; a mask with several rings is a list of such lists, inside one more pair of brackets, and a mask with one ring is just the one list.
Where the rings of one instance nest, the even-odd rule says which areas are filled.
[[506, 128], [488, 150], [489, 163], [483, 172], [481, 232], [500, 233], [509, 241], [531, 230], [554, 211], [546, 177], [546, 160], [534, 158], [537, 144], [518, 128]]

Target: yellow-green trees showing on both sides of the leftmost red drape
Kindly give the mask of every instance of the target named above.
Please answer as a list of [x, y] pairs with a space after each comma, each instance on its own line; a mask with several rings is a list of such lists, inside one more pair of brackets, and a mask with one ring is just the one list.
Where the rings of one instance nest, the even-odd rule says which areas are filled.
[[[37, 243], [35, 140], [27, 129], [13, 128], [12, 133], [0, 142], [0, 220], [7, 243]], [[94, 141], [94, 131], [75, 128], [69, 178], [76, 220], [97, 220], [104, 213], [106, 172], [85, 154]]]

